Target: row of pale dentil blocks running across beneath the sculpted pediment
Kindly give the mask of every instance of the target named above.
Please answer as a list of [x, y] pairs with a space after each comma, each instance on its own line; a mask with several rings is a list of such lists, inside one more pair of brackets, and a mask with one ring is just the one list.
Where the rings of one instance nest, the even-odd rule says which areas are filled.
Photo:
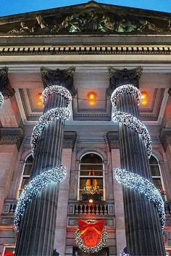
[[49, 54], [170, 54], [171, 45], [154, 46], [0, 46], [1, 55], [49, 55]]

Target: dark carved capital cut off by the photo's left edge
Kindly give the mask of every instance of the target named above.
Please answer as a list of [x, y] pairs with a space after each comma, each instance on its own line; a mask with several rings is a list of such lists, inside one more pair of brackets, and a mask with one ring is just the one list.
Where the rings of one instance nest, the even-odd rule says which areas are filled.
[[8, 67], [2, 67], [0, 69], [0, 91], [4, 96], [4, 99], [12, 97], [15, 93], [14, 89], [10, 86], [8, 79]]

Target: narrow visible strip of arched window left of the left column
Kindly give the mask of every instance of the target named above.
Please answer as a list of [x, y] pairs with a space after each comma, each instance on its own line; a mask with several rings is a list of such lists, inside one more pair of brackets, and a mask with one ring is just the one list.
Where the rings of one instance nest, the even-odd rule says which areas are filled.
[[32, 165], [33, 165], [33, 157], [32, 157], [32, 154], [30, 154], [25, 160], [24, 170], [23, 170], [23, 174], [22, 174], [22, 178], [19, 186], [19, 194], [22, 191], [22, 189], [25, 187], [25, 185], [28, 184]]

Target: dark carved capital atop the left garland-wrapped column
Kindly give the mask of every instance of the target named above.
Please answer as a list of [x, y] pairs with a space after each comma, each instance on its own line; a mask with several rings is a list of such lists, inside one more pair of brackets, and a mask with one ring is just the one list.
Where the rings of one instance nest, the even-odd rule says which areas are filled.
[[41, 79], [43, 81], [44, 88], [48, 86], [64, 86], [70, 91], [72, 96], [77, 94], [75, 87], [73, 85], [73, 75], [75, 73], [75, 67], [69, 67], [65, 70], [50, 70], [46, 67], [41, 67]]

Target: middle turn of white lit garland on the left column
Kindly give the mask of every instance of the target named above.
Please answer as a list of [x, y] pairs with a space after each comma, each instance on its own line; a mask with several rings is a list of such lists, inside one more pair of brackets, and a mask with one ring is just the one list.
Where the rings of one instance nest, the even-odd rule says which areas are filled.
[[36, 142], [38, 140], [38, 137], [41, 136], [43, 128], [49, 125], [51, 121], [59, 119], [70, 119], [70, 110], [68, 110], [67, 107], [56, 107], [54, 109], [48, 110], [43, 115], [41, 115], [35, 127], [33, 128], [33, 133], [30, 139], [30, 145], [33, 155], [36, 148]]

